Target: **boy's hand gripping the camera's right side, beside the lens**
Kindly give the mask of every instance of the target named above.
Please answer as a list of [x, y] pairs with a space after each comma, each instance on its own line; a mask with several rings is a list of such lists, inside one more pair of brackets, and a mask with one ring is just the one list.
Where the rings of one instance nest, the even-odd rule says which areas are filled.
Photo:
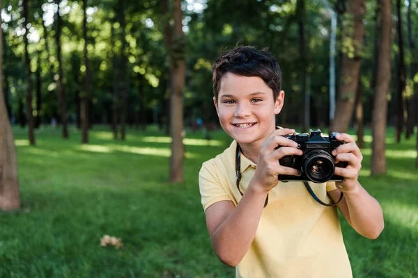
[[335, 156], [335, 163], [339, 163], [339, 161], [348, 163], [345, 168], [335, 167], [335, 174], [343, 177], [343, 181], [336, 181], [336, 188], [341, 192], [347, 192], [357, 187], [363, 156], [354, 138], [347, 133], [337, 134], [336, 140], [344, 141], [346, 144], [340, 145], [332, 151], [332, 155]]

